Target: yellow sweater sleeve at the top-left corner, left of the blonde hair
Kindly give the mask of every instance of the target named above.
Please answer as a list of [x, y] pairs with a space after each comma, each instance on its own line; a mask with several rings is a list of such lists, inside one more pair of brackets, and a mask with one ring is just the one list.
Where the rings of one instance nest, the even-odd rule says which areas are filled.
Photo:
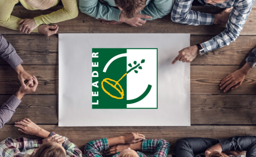
[[[18, 0], [0, 0], [0, 26], [19, 31], [21, 25], [18, 22], [22, 19], [11, 15], [14, 5], [18, 2]], [[32, 32], [38, 32], [38, 29]]]

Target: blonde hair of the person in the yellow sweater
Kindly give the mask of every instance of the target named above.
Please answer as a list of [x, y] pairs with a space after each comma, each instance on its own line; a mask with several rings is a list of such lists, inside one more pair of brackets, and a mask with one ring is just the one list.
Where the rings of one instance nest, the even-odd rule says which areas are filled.
[[57, 0], [25, 0], [28, 5], [39, 10], [46, 10], [56, 3]]

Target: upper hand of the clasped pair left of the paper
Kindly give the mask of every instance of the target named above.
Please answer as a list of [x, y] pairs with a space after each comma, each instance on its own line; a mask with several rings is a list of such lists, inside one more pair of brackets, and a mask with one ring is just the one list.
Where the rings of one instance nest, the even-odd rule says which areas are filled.
[[[31, 80], [33, 77], [31, 75], [29, 75], [24, 68], [22, 67], [22, 65], [18, 65], [18, 67], [16, 67], [16, 72], [18, 73], [18, 78], [19, 81], [21, 82], [21, 85], [24, 89], [26, 89], [26, 84], [24, 83], [25, 80]], [[29, 85], [29, 87], [32, 87], [34, 85], [33, 81], [32, 83]]]

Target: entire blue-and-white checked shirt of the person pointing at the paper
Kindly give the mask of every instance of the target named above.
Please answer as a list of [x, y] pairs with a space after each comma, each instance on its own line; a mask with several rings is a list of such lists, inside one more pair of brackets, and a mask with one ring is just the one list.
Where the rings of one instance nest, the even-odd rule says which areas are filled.
[[[194, 0], [175, 0], [171, 12], [173, 22], [185, 25], [212, 25], [214, 22], [214, 14], [190, 10], [193, 1]], [[209, 5], [206, 3], [206, 0], [199, 0], [199, 2], [204, 5]], [[229, 45], [237, 39], [251, 12], [253, 2], [254, 0], [228, 0], [223, 3], [214, 4], [214, 6], [220, 8], [234, 8], [229, 15], [226, 29], [212, 39], [202, 43], [205, 53]]]

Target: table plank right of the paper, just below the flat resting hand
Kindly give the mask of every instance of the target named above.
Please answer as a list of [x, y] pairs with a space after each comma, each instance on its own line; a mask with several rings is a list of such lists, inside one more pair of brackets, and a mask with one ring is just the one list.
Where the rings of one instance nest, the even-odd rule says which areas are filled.
[[192, 125], [255, 125], [256, 95], [191, 97]]

